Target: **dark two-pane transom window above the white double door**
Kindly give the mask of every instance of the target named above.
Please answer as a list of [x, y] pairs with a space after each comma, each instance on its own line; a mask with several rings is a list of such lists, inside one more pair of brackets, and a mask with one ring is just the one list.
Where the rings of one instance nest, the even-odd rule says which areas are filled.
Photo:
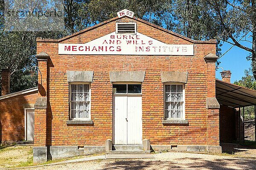
[[141, 94], [141, 84], [113, 84], [115, 94]]

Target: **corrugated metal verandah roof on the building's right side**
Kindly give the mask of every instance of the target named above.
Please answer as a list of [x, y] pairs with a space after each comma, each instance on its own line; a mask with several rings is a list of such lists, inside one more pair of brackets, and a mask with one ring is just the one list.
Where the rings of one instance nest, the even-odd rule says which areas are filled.
[[216, 79], [216, 99], [233, 108], [256, 105], [256, 91]]

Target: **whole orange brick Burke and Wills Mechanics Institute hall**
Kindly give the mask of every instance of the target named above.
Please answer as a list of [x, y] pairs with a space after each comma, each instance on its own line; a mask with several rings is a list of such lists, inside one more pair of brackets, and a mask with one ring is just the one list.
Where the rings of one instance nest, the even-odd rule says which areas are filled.
[[59, 40], [37, 39], [34, 161], [124, 145], [221, 153], [216, 41], [117, 14]]

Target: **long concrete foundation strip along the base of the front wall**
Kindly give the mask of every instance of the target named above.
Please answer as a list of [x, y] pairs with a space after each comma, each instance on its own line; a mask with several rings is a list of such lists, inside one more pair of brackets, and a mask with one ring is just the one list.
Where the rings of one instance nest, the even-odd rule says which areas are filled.
[[[114, 147], [114, 150], [113, 150]], [[116, 150], [117, 149], [117, 150]], [[144, 149], [144, 150], [142, 150]], [[221, 153], [221, 146], [207, 146], [207, 145], [150, 145], [149, 140], [143, 140], [143, 145], [112, 145], [111, 140], [106, 141], [105, 146], [51, 146], [48, 147], [34, 147], [33, 161], [34, 163], [46, 162], [48, 160], [64, 159], [81, 155], [93, 154], [145, 154], [154, 151], [187, 151], [187, 152], [210, 152]], [[119, 153], [120, 152], [120, 153]]]

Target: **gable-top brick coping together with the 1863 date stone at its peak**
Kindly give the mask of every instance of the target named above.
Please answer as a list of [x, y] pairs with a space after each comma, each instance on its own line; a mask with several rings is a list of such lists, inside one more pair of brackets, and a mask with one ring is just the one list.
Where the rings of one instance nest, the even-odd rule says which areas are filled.
[[117, 17], [113, 17], [113, 18], [111, 18], [111, 19], [109, 19], [109, 20], [106, 20], [106, 21], [103, 21], [103, 22], [101, 22], [101, 23], [99, 23], [99, 24], [96, 24], [96, 25], [94, 25], [94, 26], [85, 28], [85, 29], [83, 29], [83, 30], [81, 30], [81, 31], [78, 31], [78, 32], [73, 33], [73, 34], [71, 34], [71, 35], [68, 35], [68, 36], [66, 36], [66, 37], [62, 37], [62, 38], [60, 38], [60, 39], [44, 39], [44, 38], [37, 38], [37, 39], [36, 39], [36, 42], [61, 42], [61, 41], [67, 40], [67, 39], [69, 39], [69, 38], [75, 37], [76, 35], [83, 34], [83, 33], [87, 32], [87, 31], [90, 31], [90, 30], [92, 30], [92, 29], [94, 29], [94, 28], [97, 28], [97, 27], [99, 27], [99, 26], [102, 26], [102, 25], [104, 25], [104, 24], [111, 23], [111, 22], [114, 21], [114, 20], [118, 20], [118, 19], [121, 19], [121, 18], [123, 18], [123, 17], [129, 17], [129, 18], [132, 18], [132, 19], [134, 19], [134, 20], [140, 21], [140, 22], [142, 22], [142, 23], [144, 23], [144, 24], [146, 24], [146, 25], [148, 25], [148, 26], [152, 26], [152, 27], [154, 27], [154, 28], [160, 29], [160, 30], [162, 30], [162, 31], [165, 31], [165, 32], [167, 32], [167, 33], [169, 33], [169, 34], [175, 35], [175, 36], [177, 36], [177, 37], [180, 37], [180, 38], [182, 38], [182, 39], [184, 39], [184, 40], [187, 40], [187, 41], [189, 41], [189, 42], [192, 42], [192, 43], [209, 43], [209, 44], [216, 44], [216, 43], [217, 43], [217, 41], [216, 41], [215, 39], [210, 39], [210, 40], [192, 40], [191, 38], [185, 37], [185, 36], [183, 36], [183, 35], [181, 35], [181, 34], [178, 34], [178, 33], [176, 33], [176, 32], [170, 31], [170, 30], [168, 30], [168, 29], [166, 29], [166, 28], [162, 28], [162, 27], [157, 26], [157, 25], [155, 25], [155, 24], [153, 24], [153, 23], [150, 23], [150, 22], [148, 22], [148, 21], [146, 21], [146, 20], [143, 20], [143, 19], [134, 17], [134, 12], [133, 12], [133, 11], [130, 11], [130, 10], [128, 10], [128, 9], [123, 9], [123, 10], [117, 12], [116, 14], [117, 14]]

